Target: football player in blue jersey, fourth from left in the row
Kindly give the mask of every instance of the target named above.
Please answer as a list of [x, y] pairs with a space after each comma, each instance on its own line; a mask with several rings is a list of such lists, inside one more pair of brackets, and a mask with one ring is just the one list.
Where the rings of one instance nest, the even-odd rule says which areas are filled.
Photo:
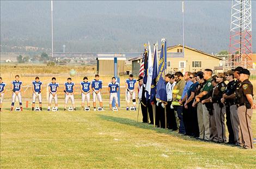
[[48, 83], [48, 91], [49, 91], [49, 102], [48, 102], [48, 111], [50, 111], [51, 109], [51, 104], [52, 104], [52, 99], [54, 98], [54, 103], [55, 103], [55, 107], [58, 110], [58, 96], [57, 96], [57, 92], [58, 92], [58, 87], [59, 84], [56, 83], [56, 78], [52, 78], [52, 83]]

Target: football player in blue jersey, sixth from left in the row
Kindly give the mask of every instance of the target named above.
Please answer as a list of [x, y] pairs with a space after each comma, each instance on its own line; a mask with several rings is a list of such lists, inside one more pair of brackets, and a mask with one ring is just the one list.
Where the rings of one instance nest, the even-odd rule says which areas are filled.
[[84, 108], [84, 102], [87, 102], [87, 107], [90, 107], [90, 82], [88, 82], [88, 78], [84, 77], [83, 82], [80, 83], [80, 90], [82, 92], [82, 108]]

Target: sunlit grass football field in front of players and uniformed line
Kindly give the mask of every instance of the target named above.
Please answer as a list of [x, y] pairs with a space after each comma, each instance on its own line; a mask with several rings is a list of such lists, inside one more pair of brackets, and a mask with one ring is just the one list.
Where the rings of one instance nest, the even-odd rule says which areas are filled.
[[[107, 104], [106, 104], [107, 105]], [[9, 105], [5, 105], [5, 107]], [[139, 115], [141, 119], [141, 114]], [[127, 112], [1, 112], [1, 168], [255, 168], [256, 151], [137, 123]], [[254, 137], [256, 120], [253, 117]]]

